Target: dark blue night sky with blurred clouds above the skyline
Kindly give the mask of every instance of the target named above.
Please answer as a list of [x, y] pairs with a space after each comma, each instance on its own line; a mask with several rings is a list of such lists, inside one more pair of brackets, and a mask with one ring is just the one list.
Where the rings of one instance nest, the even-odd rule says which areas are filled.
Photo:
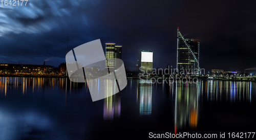
[[256, 1], [32, 1], [0, 3], [0, 63], [65, 62], [68, 51], [100, 39], [122, 45], [135, 70], [140, 49], [154, 52], [153, 68], [176, 68], [177, 28], [200, 40], [200, 67], [256, 67]]

